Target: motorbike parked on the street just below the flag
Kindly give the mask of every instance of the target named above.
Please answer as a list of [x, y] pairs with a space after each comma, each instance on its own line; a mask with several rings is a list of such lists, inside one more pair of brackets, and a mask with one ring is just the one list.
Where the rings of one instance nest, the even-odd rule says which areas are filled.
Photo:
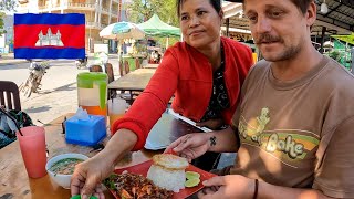
[[46, 70], [50, 67], [49, 62], [30, 61], [30, 74], [24, 83], [19, 86], [19, 91], [25, 97], [30, 97], [32, 93], [38, 93], [41, 90], [41, 81]]

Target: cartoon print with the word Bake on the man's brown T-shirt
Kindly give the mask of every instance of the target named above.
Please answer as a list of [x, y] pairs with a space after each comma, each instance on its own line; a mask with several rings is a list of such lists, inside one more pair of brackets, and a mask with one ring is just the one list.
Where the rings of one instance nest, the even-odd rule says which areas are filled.
[[302, 129], [269, 129], [270, 109], [263, 107], [253, 118], [240, 117], [239, 135], [241, 144], [259, 147], [283, 164], [296, 167], [296, 161], [306, 158], [316, 149], [320, 138], [316, 134]]

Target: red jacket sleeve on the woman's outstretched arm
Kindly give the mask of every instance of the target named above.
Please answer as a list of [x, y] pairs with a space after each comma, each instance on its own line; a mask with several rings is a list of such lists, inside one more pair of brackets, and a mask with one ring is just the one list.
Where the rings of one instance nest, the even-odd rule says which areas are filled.
[[177, 88], [178, 62], [170, 50], [166, 51], [165, 56], [144, 92], [134, 101], [124, 117], [113, 124], [113, 133], [129, 129], [137, 135], [133, 150], [144, 147], [147, 134], [166, 111], [167, 103]]

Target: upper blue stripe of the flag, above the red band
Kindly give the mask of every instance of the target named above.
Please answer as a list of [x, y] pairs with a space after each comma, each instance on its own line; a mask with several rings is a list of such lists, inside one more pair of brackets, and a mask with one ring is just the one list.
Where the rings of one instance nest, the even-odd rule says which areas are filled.
[[14, 14], [14, 25], [20, 24], [48, 24], [48, 25], [59, 25], [59, 24], [71, 24], [81, 25], [85, 24], [85, 14], [81, 13], [25, 13], [25, 14]]

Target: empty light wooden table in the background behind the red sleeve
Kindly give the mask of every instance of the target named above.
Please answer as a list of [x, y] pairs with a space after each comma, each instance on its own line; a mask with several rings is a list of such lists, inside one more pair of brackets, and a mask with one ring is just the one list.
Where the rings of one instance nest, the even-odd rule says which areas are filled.
[[138, 69], [116, 81], [108, 84], [108, 90], [119, 91], [138, 91], [142, 92], [147, 86], [156, 70], [154, 69]]

